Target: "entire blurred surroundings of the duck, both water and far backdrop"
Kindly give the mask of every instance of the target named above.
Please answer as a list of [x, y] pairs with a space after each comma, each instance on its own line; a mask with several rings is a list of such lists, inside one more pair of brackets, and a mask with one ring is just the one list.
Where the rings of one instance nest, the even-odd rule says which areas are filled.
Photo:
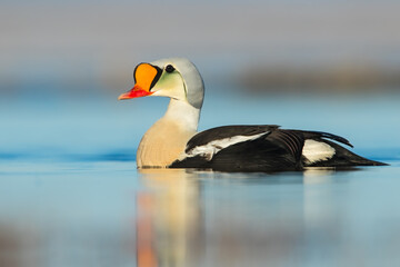
[[[400, 261], [399, 11], [394, 0], [2, 0], [0, 266]], [[393, 167], [137, 174], [168, 99], [117, 98], [136, 65], [166, 57], [204, 79], [199, 130], [328, 131]]]

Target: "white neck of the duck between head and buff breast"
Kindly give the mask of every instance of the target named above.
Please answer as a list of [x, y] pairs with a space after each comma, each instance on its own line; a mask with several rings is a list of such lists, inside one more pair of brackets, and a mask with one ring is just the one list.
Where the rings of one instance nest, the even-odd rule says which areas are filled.
[[200, 109], [194, 108], [187, 101], [171, 99], [167, 112], [161, 119], [173, 120], [182, 125], [187, 130], [197, 131]]

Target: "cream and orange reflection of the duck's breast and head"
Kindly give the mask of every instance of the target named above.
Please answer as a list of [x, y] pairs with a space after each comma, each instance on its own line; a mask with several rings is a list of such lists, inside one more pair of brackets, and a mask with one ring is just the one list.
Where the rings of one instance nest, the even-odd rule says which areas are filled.
[[201, 209], [197, 174], [141, 169], [138, 192], [137, 261], [140, 267], [188, 266], [199, 254]]

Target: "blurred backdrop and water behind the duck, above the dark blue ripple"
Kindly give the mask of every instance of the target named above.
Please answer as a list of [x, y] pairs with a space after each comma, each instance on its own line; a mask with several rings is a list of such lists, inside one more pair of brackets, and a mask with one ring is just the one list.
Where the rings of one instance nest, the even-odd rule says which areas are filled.
[[399, 147], [399, 9], [390, 0], [3, 0], [0, 151], [134, 150], [168, 100], [116, 98], [137, 63], [166, 57], [188, 57], [203, 76], [200, 129], [278, 123], [333, 131], [360, 149]]

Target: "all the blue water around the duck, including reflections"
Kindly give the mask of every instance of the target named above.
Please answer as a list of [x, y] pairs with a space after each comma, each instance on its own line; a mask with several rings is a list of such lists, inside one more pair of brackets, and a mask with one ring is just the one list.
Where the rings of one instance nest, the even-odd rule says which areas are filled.
[[326, 130], [390, 166], [138, 171], [136, 147], [166, 99], [2, 99], [0, 266], [400, 264], [399, 97], [210, 95], [200, 129]]

